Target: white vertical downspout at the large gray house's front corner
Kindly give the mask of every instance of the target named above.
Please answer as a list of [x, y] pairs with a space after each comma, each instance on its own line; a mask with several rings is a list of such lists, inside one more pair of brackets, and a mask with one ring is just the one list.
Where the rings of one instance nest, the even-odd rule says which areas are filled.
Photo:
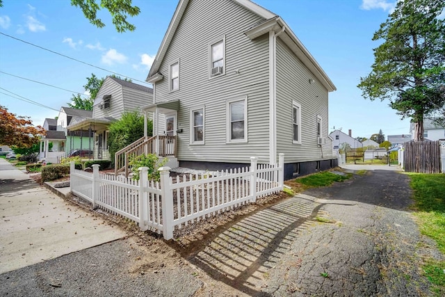
[[269, 31], [269, 163], [277, 163], [277, 37], [284, 32]]

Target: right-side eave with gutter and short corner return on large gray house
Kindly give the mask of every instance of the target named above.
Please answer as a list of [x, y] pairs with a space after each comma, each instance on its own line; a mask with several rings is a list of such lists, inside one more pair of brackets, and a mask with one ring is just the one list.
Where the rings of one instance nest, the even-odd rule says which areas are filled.
[[309, 69], [312, 74], [320, 81], [328, 92], [337, 90], [334, 83], [327, 77], [327, 74], [323, 71], [321, 66], [317, 63], [315, 58], [309, 53], [301, 41], [297, 38], [295, 33], [289, 29], [289, 26], [284, 22], [281, 17], [274, 17], [273, 19], [268, 19], [266, 22], [254, 26], [245, 32], [251, 40], [258, 38], [261, 35], [268, 33], [269, 31], [275, 31], [278, 33], [284, 32], [279, 35], [281, 40], [293, 51], [294, 54], [300, 59], [300, 61]]

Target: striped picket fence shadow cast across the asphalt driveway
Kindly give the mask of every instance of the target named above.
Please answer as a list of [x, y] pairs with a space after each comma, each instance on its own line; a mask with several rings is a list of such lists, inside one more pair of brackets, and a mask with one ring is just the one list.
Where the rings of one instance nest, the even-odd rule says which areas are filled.
[[321, 207], [314, 198], [295, 196], [227, 224], [220, 232], [209, 232], [204, 244], [197, 243], [202, 248], [189, 255], [174, 243], [172, 248], [214, 280], [250, 296], [270, 296], [261, 291], [268, 271], [280, 263], [298, 234], [314, 223]]

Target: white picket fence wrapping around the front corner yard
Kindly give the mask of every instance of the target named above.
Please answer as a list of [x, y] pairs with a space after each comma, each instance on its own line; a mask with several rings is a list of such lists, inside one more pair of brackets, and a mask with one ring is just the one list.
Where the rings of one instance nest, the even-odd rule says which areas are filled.
[[148, 168], [139, 168], [140, 180], [74, 168], [71, 163], [70, 191], [99, 207], [138, 223], [141, 230], [162, 232], [172, 239], [175, 227], [206, 217], [257, 198], [282, 191], [284, 154], [277, 164], [258, 164], [250, 158], [250, 168], [238, 168], [201, 175], [170, 177], [170, 168], [159, 168], [160, 182], [147, 178]]

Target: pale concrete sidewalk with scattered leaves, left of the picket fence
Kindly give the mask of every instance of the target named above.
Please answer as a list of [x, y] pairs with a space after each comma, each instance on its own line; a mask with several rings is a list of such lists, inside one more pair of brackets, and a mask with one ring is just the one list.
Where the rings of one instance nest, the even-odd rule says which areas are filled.
[[35, 184], [4, 159], [0, 159], [0, 210], [0, 273], [127, 236]]

